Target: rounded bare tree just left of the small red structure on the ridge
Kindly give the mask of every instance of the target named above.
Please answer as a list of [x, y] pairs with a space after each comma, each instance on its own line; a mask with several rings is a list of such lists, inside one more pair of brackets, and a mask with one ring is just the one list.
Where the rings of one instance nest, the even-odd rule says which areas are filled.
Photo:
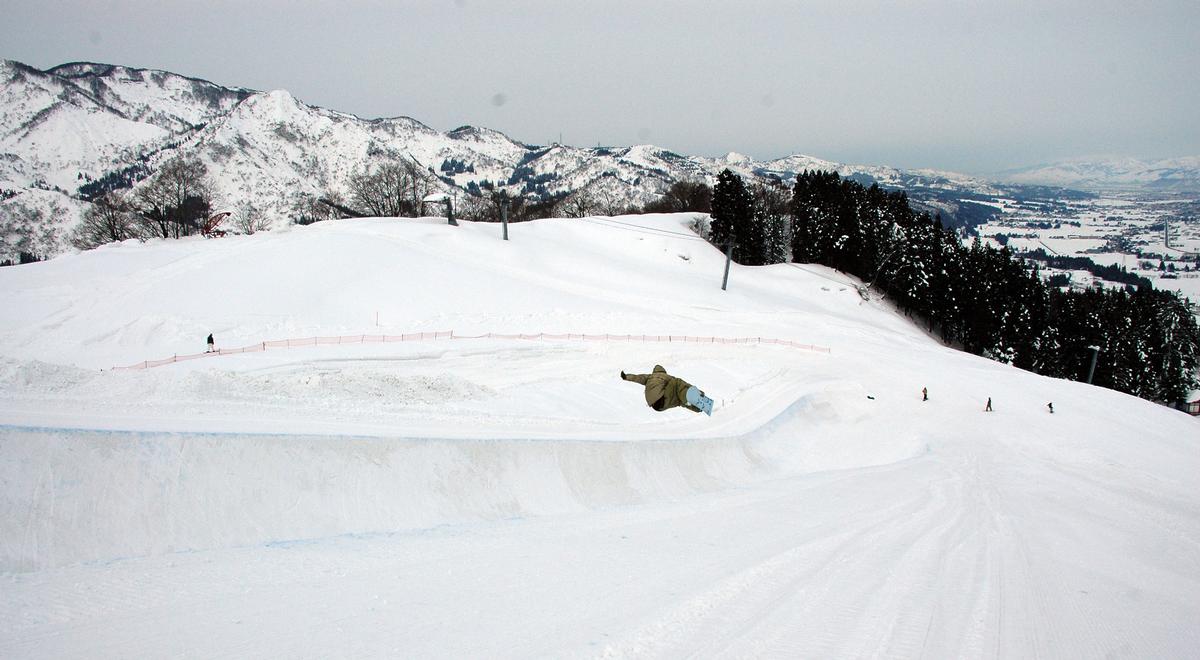
[[208, 168], [199, 158], [173, 158], [138, 190], [134, 205], [150, 235], [164, 239], [197, 234], [215, 202]]

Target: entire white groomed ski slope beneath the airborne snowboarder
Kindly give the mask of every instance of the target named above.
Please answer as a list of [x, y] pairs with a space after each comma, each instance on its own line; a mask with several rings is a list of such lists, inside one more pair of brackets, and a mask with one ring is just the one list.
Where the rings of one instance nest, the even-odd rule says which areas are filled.
[[[1195, 419], [946, 348], [827, 269], [721, 292], [690, 222], [0, 269], [0, 656], [1196, 656]], [[422, 331], [592, 338], [110, 368]], [[618, 377], [655, 364], [715, 414]]]

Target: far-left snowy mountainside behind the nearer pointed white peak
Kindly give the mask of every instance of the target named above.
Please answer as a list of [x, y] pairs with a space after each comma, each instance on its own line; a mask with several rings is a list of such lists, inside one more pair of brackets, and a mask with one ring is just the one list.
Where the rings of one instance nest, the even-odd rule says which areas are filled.
[[0, 259], [68, 252], [89, 206], [80, 186], [170, 148], [248, 94], [164, 71], [0, 60]]

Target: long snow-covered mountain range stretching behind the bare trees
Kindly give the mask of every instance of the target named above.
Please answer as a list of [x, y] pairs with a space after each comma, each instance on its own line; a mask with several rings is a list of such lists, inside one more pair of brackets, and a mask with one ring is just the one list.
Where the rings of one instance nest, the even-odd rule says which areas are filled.
[[0, 259], [67, 251], [97, 181], [137, 185], [175, 156], [208, 166], [220, 205], [251, 206], [276, 224], [305, 199], [346, 194], [354, 173], [383, 160], [415, 160], [460, 196], [491, 187], [546, 202], [584, 191], [600, 214], [643, 205], [676, 181], [713, 181], [724, 168], [785, 184], [805, 169], [836, 170], [907, 190], [918, 205], [960, 222], [971, 222], [956, 217], [972, 211], [964, 211], [965, 199], [1019, 196], [961, 174], [803, 155], [756, 161], [654, 145], [530, 145], [482, 127], [440, 132], [410, 118], [368, 120], [308, 106], [282, 90], [86, 62], [38, 71], [0, 60]]

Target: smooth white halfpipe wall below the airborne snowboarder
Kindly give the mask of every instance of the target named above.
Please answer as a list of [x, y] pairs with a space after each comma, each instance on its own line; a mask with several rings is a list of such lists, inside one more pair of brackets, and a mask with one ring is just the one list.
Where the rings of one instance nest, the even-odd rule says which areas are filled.
[[0, 571], [672, 498], [752, 445], [4, 430]]

